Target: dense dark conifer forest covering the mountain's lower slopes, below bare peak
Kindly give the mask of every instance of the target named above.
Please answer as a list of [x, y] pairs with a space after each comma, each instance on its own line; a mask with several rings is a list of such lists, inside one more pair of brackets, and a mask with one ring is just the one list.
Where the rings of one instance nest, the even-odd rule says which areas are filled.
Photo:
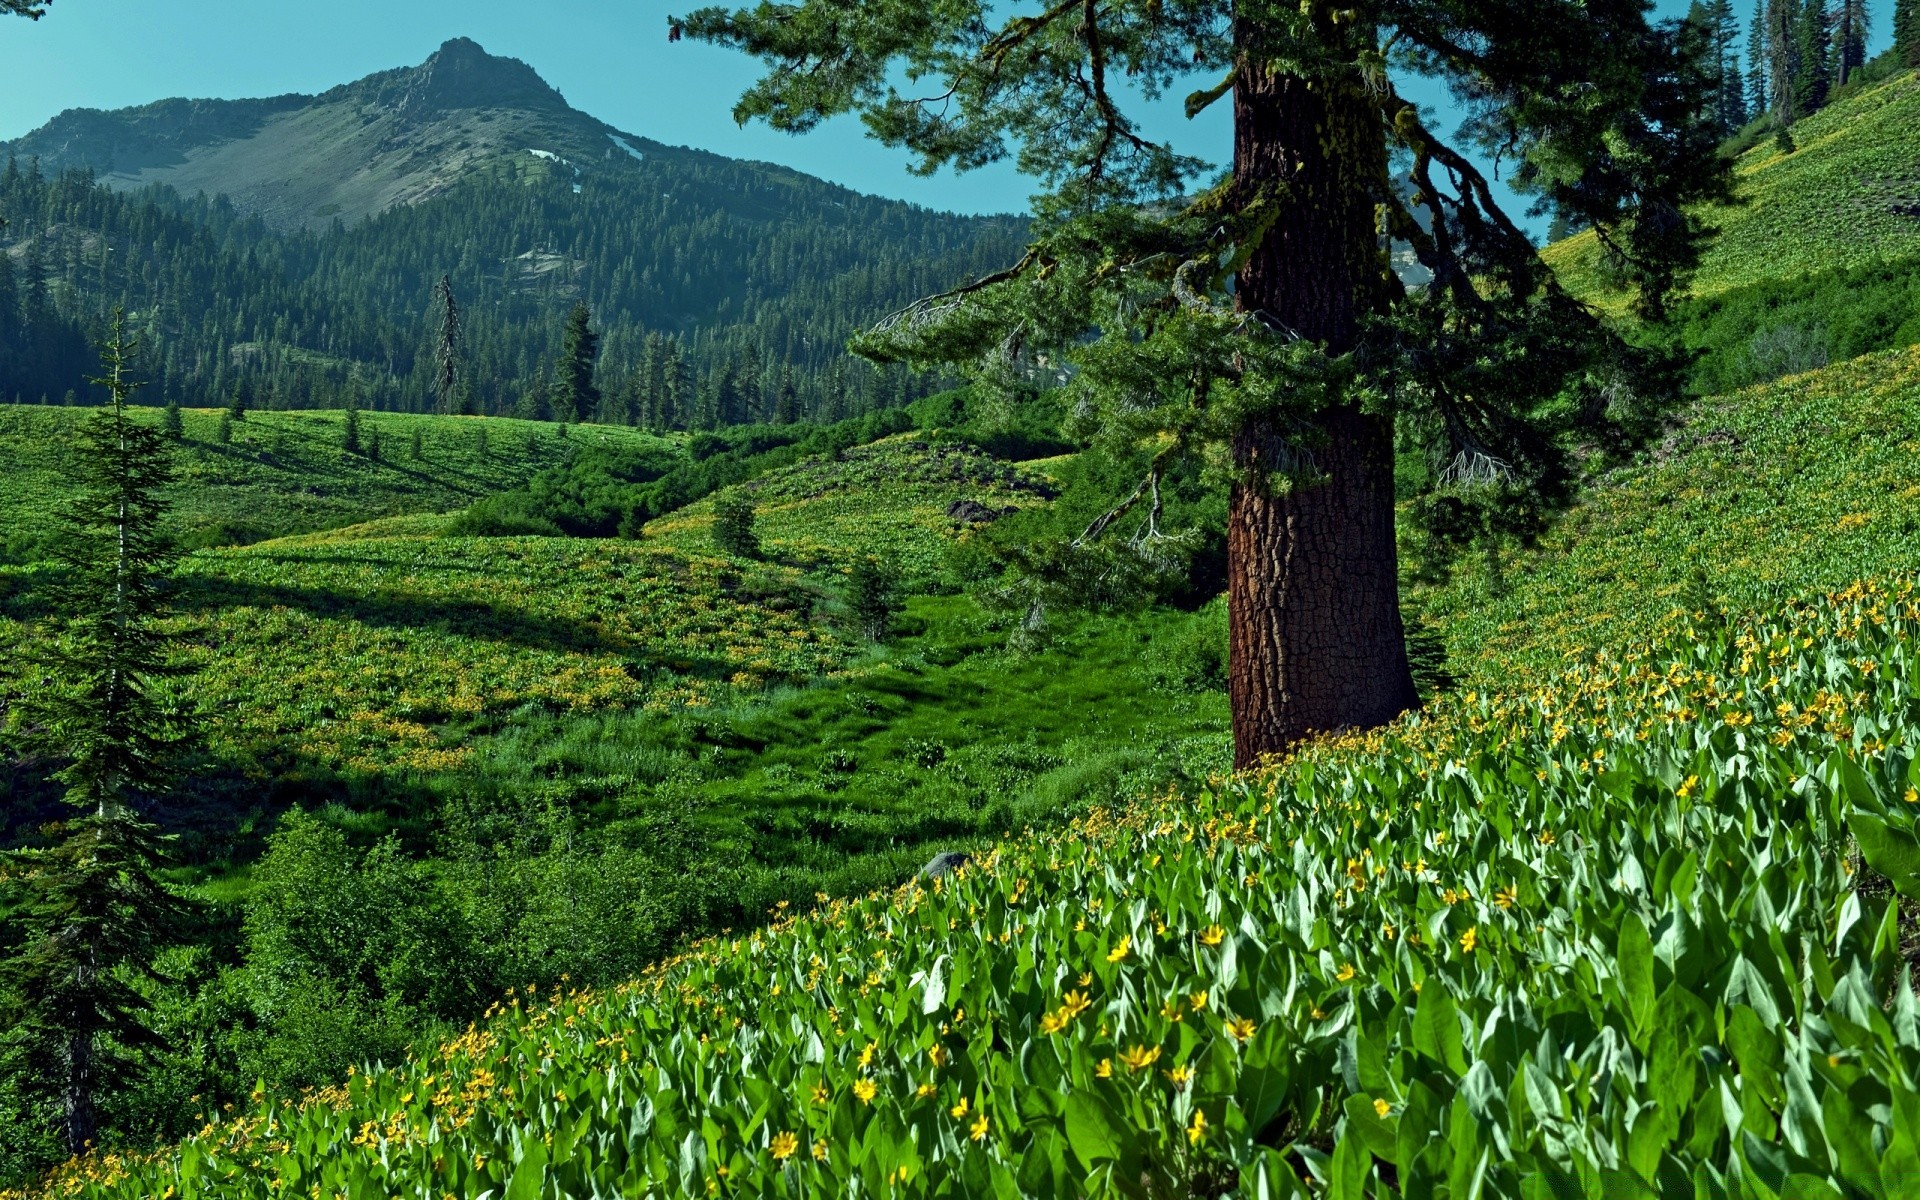
[[125, 307], [142, 399], [430, 411], [432, 288], [461, 303], [463, 403], [540, 409], [563, 323], [588, 303], [618, 419], [674, 428], [837, 420], [925, 394], [847, 355], [877, 317], [1020, 257], [1018, 219], [954, 217], [710, 156], [668, 186], [501, 161], [351, 228], [276, 232], [225, 198], [113, 192], [0, 169], [0, 401], [86, 403], [94, 340]]

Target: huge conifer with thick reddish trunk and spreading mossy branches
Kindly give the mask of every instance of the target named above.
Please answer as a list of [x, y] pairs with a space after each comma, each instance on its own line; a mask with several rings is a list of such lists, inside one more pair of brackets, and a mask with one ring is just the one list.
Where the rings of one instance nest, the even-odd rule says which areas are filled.
[[[1062, 555], [1158, 553], [1162, 480], [1217, 465], [1240, 766], [1417, 703], [1396, 445], [1446, 465], [1419, 513], [1538, 528], [1569, 495], [1574, 447], [1644, 436], [1674, 396], [1557, 286], [1394, 67], [1475, 96], [1467, 136], [1515, 161], [1542, 207], [1594, 227], [1644, 313], [1697, 263], [1693, 205], [1730, 186], [1703, 48], [1644, 4], [795, 0], [701, 8], [670, 31], [766, 63], [741, 121], [801, 132], [856, 113], [916, 169], [1014, 157], [1041, 179], [1020, 261], [856, 348], [968, 363], [1010, 396], [1073, 367], [1071, 405], [1142, 478]], [[1188, 113], [1233, 109], [1233, 169], [1213, 186], [1210, 163], [1129, 111], [1188, 73], [1213, 81]], [[1400, 284], [1382, 234], [1432, 286]]]

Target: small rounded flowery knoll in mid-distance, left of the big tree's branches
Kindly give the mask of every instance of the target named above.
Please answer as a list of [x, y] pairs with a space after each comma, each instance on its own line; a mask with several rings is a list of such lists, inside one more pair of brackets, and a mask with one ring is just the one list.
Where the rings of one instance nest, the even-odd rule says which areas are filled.
[[[766, 557], [818, 568], [870, 553], [924, 584], [939, 572], [948, 538], [964, 528], [947, 516], [948, 505], [1031, 507], [1044, 503], [1050, 484], [972, 445], [929, 445], [906, 434], [776, 470], [739, 492], [755, 503]], [[708, 549], [712, 501], [651, 522], [647, 538]]]

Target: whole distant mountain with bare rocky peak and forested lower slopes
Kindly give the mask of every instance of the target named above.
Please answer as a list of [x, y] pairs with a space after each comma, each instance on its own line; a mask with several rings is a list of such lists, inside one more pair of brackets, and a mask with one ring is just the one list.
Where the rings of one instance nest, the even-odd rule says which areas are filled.
[[584, 301], [607, 419], [741, 420], [787, 386], [837, 419], [916, 388], [847, 359], [851, 332], [1025, 238], [624, 134], [467, 40], [311, 98], [69, 111], [0, 154], [0, 390], [27, 401], [81, 388], [77, 334], [123, 305], [156, 399], [244, 378], [280, 407], [424, 409], [445, 275], [474, 411], [540, 415]]

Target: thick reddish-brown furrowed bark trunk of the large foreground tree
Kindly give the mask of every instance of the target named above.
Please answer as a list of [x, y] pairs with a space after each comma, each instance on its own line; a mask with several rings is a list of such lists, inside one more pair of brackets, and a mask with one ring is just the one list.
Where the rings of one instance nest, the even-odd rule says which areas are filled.
[[[1375, 232], [1386, 179], [1379, 115], [1357, 83], [1246, 65], [1235, 86], [1235, 182], [1283, 184], [1281, 217], [1240, 271], [1238, 303], [1332, 353], [1392, 286]], [[1235, 766], [1308, 733], [1384, 724], [1417, 703], [1400, 624], [1392, 419], [1334, 407], [1235, 438], [1227, 515]]]

